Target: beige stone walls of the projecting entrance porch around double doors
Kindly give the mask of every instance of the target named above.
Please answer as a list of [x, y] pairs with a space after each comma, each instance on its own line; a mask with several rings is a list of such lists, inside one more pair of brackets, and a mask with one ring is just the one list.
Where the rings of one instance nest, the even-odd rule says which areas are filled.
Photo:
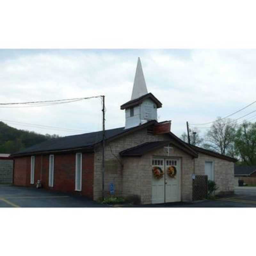
[[[167, 149], [160, 148], [141, 157], [124, 157], [123, 196], [138, 195], [141, 204], [152, 203], [152, 158], [168, 157]], [[185, 152], [173, 147], [169, 157], [181, 161], [181, 200], [192, 200], [192, 174], [194, 160]]]

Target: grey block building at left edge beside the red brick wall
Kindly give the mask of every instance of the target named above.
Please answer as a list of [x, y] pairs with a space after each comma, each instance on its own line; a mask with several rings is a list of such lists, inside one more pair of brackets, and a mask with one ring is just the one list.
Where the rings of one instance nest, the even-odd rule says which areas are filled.
[[0, 154], [0, 184], [12, 184], [13, 160], [10, 154]]

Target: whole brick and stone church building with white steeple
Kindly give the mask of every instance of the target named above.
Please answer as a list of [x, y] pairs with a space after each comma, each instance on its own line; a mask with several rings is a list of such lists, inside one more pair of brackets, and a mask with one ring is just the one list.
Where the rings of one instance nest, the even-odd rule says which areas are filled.
[[[193, 174], [215, 180], [218, 193], [232, 193], [236, 159], [180, 140], [170, 122], [156, 121], [161, 107], [147, 91], [139, 59], [132, 99], [121, 106], [125, 127], [105, 133], [104, 194], [113, 184], [116, 196], [141, 204], [191, 201]], [[102, 197], [102, 131], [47, 140], [12, 156], [15, 185], [41, 180], [43, 188]]]

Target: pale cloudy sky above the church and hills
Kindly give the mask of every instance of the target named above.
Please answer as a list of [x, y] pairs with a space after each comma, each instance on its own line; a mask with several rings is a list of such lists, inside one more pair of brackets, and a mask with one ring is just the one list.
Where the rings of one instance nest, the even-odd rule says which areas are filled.
[[[0, 103], [105, 95], [106, 129], [122, 127], [125, 114], [120, 106], [131, 99], [138, 57], [148, 92], [163, 104], [158, 121], [172, 120], [171, 131], [177, 136], [186, 132], [186, 121], [211, 122], [256, 100], [256, 50], [2, 49]], [[254, 105], [232, 118], [255, 110]], [[101, 130], [101, 108], [99, 98], [57, 106], [0, 108], [0, 121], [18, 129], [66, 136]], [[246, 119], [253, 120], [255, 114]]]

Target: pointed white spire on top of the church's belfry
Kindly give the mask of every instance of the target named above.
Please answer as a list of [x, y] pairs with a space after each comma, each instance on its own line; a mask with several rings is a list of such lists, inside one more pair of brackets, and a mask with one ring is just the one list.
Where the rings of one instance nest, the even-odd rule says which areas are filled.
[[132, 98], [131, 100], [137, 99], [142, 95], [145, 95], [148, 93], [147, 85], [145, 82], [145, 78], [143, 75], [141, 63], [140, 63], [140, 57], [138, 58], [134, 83], [133, 83], [133, 89], [132, 89]]

